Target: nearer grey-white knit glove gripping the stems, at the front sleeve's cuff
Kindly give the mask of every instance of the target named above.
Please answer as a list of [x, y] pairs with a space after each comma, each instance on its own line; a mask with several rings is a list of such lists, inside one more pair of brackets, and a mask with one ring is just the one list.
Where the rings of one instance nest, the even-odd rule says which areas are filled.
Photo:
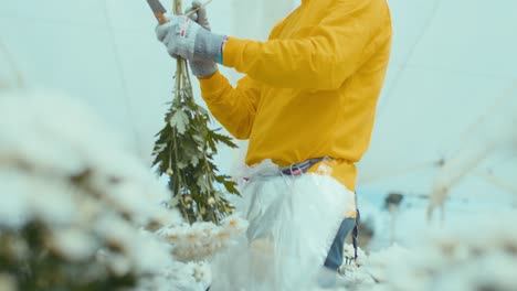
[[171, 56], [220, 62], [226, 36], [211, 33], [184, 15], [168, 14], [167, 19], [168, 23], [156, 28], [156, 35]]

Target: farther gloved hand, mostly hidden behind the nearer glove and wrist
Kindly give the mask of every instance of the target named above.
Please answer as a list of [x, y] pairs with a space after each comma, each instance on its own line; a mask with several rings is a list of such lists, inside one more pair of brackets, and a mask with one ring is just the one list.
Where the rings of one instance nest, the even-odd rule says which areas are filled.
[[[210, 22], [207, 17], [207, 9], [204, 9], [201, 4], [200, 1], [194, 0], [192, 1], [192, 7], [189, 8], [187, 11], [184, 11], [184, 14], [189, 14], [191, 11], [198, 9], [194, 13], [190, 15], [190, 19], [196, 21], [199, 25], [204, 28], [208, 31], [211, 31], [210, 29]], [[218, 65], [208, 60], [200, 60], [200, 61], [190, 61], [190, 69], [192, 71], [192, 74], [197, 77], [207, 77], [210, 75], [213, 75], [215, 71], [218, 71]]]

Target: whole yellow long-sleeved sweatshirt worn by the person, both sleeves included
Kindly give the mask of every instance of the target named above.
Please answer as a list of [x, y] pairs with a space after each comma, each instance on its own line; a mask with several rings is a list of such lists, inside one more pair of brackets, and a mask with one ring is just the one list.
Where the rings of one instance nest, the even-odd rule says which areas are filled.
[[246, 76], [236, 88], [219, 72], [201, 79], [202, 97], [230, 133], [250, 139], [247, 164], [330, 157], [331, 175], [354, 191], [391, 34], [386, 0], [303, 0], [267, 42], [230, 37], [223, 64]]

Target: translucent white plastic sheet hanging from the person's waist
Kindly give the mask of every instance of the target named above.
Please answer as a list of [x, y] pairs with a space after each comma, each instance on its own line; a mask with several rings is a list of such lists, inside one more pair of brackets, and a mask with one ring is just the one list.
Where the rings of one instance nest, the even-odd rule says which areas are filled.
[[271, 161], [244, 172], [246, 238], [215, 258], [211, 290], [313, 288], [354, 193], [327, 175], [281, 175]]

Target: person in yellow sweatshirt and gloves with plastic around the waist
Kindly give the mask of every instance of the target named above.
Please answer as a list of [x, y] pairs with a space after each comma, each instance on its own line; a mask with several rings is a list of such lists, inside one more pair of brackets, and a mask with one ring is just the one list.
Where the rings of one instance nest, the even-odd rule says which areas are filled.
[[[243, 196], [251, 201], [246, 208], [250, 246], [266, 238], [267, 249], [276, 259], [283, 258], [281, 269], [289, 268], [289, 260], [305, 267], [303, 260], [289, 258], [287, 249], [310, 249], [314, 246], [306, 240], [320, 235], [323, 241], [315, 238], [313, 245], [328, 250], [333, 239], [327, 233], [334, 238], [338, 230], [328, 256], [307, 261], [325, 261], [336, 270], [342, 262], [342, 240], [354, 223], [345, 219], [339, 227], [328, 213], [336, 206], [340, 219], [342, 209], [347, 217], [355, 217], [355, 205], [350, 207], [355, 163], [370, 141], [390, 55], [392, 31], [386, 0], [302, 0], [266, 42], [210, 32], [204, 9], [193, 20], [169, 15], [169, 23], [159, 25], [157, 35], [170, 55], [190, 62], [213, 116], [235, 138], [250, 140], [246, 164], [251, 170], [243, 174], [249, 177]], [[217, 63], [245, 77], [234, 88]], [[312, 222], [317, 222], [314, 228], [325, 230], [304, 230], [312, 228]], [[256, 230], [261, 227], [268, 230]], [[285, 235], [279, 238], [284, 233], [306, 244], [289, 246]], [[288, 281], [288, 272], [282, 276]], [[289, 282], [273, 288], [295, 289]]]

